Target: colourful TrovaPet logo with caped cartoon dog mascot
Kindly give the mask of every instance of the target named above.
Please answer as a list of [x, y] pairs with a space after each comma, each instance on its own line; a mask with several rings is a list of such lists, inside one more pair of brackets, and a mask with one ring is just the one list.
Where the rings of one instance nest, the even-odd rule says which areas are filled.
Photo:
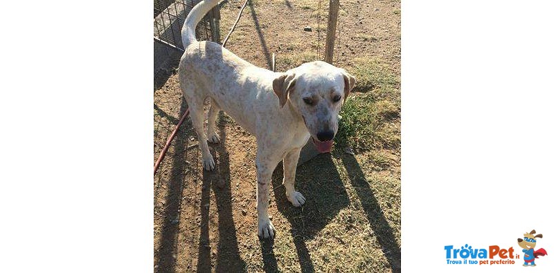
[[544, 256], [546, 250], [535, 250], [537, 238], [542, 234], [535, 234], [535, 229], [524, 234], [524, 238], [518, 238], [517, 244], [523, 248], [523, 255], [515, 252], [514, 247], [500, 247], [489, 245], [488, 247], [473, 247], [472, 245], [445, 245], [446, 263], [449, 265], [515, 265], [518, 259], [523, 258], [524, 266], [535, 266], [535, 258]]

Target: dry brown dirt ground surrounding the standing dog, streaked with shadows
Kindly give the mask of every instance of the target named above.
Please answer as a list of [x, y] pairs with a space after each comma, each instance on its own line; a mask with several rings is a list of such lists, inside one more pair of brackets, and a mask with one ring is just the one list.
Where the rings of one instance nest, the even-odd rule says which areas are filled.
[[[222, 3], [223, 37], [241, 2]], [[226, 48], [266, 68], [276, 53], [281, 71], [321, 58], [327, 12], [328, 1], [253, 0]], [[349, 70], [360, 62], [400, 79], [400, 1], [341, 0], [334, 64]], [[287, 201], [277, 167], [274, 241], [256, 235], [255, 138], [220, 113], [222, 143], [210, 145], [216, 169], [206, 172], [187, 119], [154, 176], [154, 272], [399, 272], [400, 84], [393, 90], [398, 117], [387, 126], [396, 128], [397, 147], [350, 155], [335, 145], [301, 165], [296, 188], [307, 203], [300, 208]], [[154, 161], [185, 109], [175, 73], [154, 87]]]

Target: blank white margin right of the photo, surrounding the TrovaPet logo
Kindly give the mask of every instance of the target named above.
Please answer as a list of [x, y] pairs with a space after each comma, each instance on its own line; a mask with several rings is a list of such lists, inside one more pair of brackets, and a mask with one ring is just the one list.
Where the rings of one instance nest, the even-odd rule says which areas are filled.
[[[402, 1], [402, 269], [447, 265], [445, 245], [554, 253], [553, 5]], [[535, 272], [553, 272], [553, 257]]]

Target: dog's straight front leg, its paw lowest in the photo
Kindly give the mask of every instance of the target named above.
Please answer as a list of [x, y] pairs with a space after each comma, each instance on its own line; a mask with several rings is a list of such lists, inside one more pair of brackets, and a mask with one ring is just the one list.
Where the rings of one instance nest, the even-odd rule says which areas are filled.
[[271, 184], [271, 173], [273, 173], [276, 164], [269, 162], [268, 158], [256, 156], [256, 168], [258, 169], [258, 194], [256, 196], [258, 208], [258, 236], [262, 238], [273, 238], [275, 236], [275, 227], [269, 220], [269, 184]]

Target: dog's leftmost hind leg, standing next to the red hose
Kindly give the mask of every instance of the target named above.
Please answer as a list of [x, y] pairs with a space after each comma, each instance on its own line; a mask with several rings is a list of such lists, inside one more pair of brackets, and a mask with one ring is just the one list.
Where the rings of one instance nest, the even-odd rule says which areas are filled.
[[195, 100], [188, 104], [188, 111], [190, 121], [193, 122], [196, 134], [198, 135], [198, 145], [202, 151], [202, 167], [211, 171], [215, 169], [215, 162], [213, 161], [210, 149], [208, 149], [208, 142], [204, 134], [204, 105], [202, 101]]

